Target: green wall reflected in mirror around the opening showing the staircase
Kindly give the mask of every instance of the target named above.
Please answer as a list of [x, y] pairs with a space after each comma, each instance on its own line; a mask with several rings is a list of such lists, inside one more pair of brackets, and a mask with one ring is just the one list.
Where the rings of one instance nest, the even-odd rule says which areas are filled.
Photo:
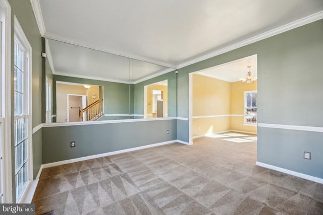
[[[130, 86], [129, 84], [122, 84], [116, 82], [106, 82], [98, 81], [91, 79], [81, 79], [67, 76], [58, 76], [53, 75], [53, 114], [56, 114], [56, 82], [71, 82], [79, 84], [89, 84], [89, 85], [98, 85], [103, 86], [103, 105], [104, 105], [104, 114], [128, 114], [130, 105]], [[62, 98], [66, 99], [66, 98]], [[101, 117], [102, 119], [124, 119], [124, 116], [121, 118], [110, 118], [110, 117]], [[129, 119], [129, 116], [126, 117]], [[102, 120], [101, 119], [101, 120]]]

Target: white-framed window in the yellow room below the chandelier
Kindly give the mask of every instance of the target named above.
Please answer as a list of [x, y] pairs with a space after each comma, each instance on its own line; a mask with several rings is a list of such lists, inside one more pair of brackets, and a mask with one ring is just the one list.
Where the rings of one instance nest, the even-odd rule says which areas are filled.
[[257, 91], [244, 92], [244, 123], [257, 124]]

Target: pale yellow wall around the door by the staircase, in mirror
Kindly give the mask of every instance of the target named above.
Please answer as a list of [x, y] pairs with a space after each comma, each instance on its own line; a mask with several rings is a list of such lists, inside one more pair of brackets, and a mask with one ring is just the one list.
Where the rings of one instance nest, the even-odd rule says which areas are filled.
[[67, 119], [67, 94], [86, 95], [83, 86], [56, 84], [56, 121], [65, 122]]

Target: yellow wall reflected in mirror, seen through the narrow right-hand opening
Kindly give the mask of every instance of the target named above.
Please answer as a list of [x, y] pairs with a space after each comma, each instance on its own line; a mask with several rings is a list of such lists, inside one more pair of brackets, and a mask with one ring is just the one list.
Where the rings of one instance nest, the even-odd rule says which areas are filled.
[[[147, 86], [147, 118], [152, 117], [152, 90], [163, 91], [163, 104], [164, 104], [164, 117], [168, 115], [168, 105], [167, 105], [167, 86], [164, 85], [148, 85]], [[150, 105], [149, 105], [150, 104]]]

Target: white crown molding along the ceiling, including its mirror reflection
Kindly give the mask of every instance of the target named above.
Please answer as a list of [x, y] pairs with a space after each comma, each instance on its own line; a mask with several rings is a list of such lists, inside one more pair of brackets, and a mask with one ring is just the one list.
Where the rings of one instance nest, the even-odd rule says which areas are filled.
[[[102, 78], [91, 77], [91, 76], [79, 76], [79, 75], [70, 75], [70, 74], [66, 74], [66, 73], [57, 73], [55, 71], [54, 66], [53, 66], [51, 55], [50, 55], [50, 53], [49, 54], [47, 53], [47, 47], [46, 47], [46, 53], [47, 53], [47, 55], [50, 55], [50, 56], [48, 56], [48, 61], [49, 61], [50, 67], [51, 67], [52, 72], [53, 72], [54, 75], [62, 75], [62, 76], [69, 76], [69, 77], [76, 77], [76, 78], [94, 79], [94, 80], [100, 80], [100, 81], [110, 81], [110, 82], [118, 82], [118, 83], [126, 83], [126, 84], [137, 84], [137, 83], [146, 81], [148, 79], [155, 78], [157, 76], [169, 73], [170, 71], [174, 70], [175, 68], [179, 69], [179, 68], [182, 68], [182, 67], [185, 67], [185, 66], [200, 62], [202, 60], [205, 60], [205, 59], [208, 59], [208, 58], [211, 58], [211, 57], [226, 53], [228, 51], [232, 51], [234, 49], [243, 47], [245, 45], [249, 45], [251, 43], [266, 39], [268, 37], [278, 35], [280, 33], [292, 30], [294, 28], [309, 24], [311, 22], [323, 19], [323, 11], [320, 11], [320, 12], [318, 12], [316, 14], [312, 14], [310, 16], [304, 17], [302, 19], [299, 19], [297, 21], [294, 21], [294, 22], [291, 22], [289, 24], [283, 25], [281, 27], [275, 28], [273, 30], [264, 32], [264, 33], [259, 34], [257, 36], [254, 36], [254, 37], [251, 37], [249, 39], [243, 40], [241, 42], [229, 45], [229, 46], [227, 46], [225, 48], [218, 49], [216, 51], [213, 51], [211, 53], [208, 53], [208, 54], [205, 54], [203, 56], [197, 57], [195, 59], [180, 63], [178, 65], [175, 65], [175, 64], [168, 63], [168, 62], [164, 62], [164, 61], [159, 61], [159, 60], [155, 60], [155, 59], [151, 59], [151, 58], [147, 58], [147, 57], [143, 57], [143, 56], [139, 56], [139, 55], [134, 55], [134, 54], [131, 54], [131, 53], [128, 53], [128, 52], [113, 50], [113, 49], [109, 49], [109, 48], [102, 48], [101, 46], [98, 46], [98, 45], [95, 45], [95, 44], [92, 44], [92, 43], [87, 43], [87, 42], [84, 42], [84, 41], [75, 40], [75, 39], [71, 39], [71, 38], [68, 38], [68, 37], [63, 37], [63, 36], [60, 36], [60, 35], [57, 35], [57, 34], [45, 32], [45, 27], [44, 27], [44, 23], [43, 23], [42, 16], [41, 16], [41, 10], [40, 10], [40, 6], [39, 6], [39, 0], [30, 0], [30, 1], [32, 3], [32, 6], [33, 6], [33, 10], [34, 10], [34, 13], [35, 13], [35, 16], [36, 16], [36, 20], [37, 20], [39, 30], [40, 30], [42, 36], [45, 37], [46, 39], [52, 39], [52, 40], [57, 40], [57, 41], [61, 41], [61, 42], [66, 42], [66, 43], [73, 44], [73, 45], [78, 45], [78, 46], [82, 46], [82, 47], [86, 47], [86, 48], [90, 48], [90, 49], [94, 49], [94, 50], [98, 50], [98, 51], [103, 51], [103, 52], [107, 52], [107, 53], [111, 53], [111, 54], [116, 54], [116, 55], [123, 56], [123, 57], [129, 57], [129, 58], [136, 59], [136, 60], [141, 60], [141, 61], [145, 61], [145, 62], [149, 62], [149, 63], [153, 63], [153, 64], [158, 64], [158, 65], [170, 67], [169, 69], [163, 70], [160, 73], [157, 73], [157, 74], [154, 74], [154, 75], [142, 78], [142, 79], [138, 79], [138, 80], [135, 80], [135, 81], [132, 81], [132, 82], [124, 82], [124, 81], [118, 81], [118, 80], [102, 79]], [[42, 33], [42, 32], [44, 32], [44, 33]], [[47, 46], [47, 43], [46, 43], [46, 46]], [[48, 48], [48, 50], [49, 50], [49, 48]], [[50, 52], [50, 50], [49, 50], [49, 52]]]

